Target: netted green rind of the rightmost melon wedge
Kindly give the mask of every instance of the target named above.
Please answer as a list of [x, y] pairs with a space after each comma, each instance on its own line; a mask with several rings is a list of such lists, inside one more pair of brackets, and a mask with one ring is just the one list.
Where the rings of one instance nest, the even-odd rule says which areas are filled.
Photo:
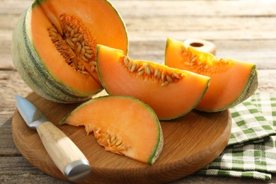
[[214, 112], [226, 110], [228, 108], [233, 108], [234, 106], [242, 103], [244, 100], [252, 96], [253, 93], [255, 93], [255, 91], [257, 90], [257, 88], [258, 88], [258, 72], [254, 64], [251, 69], [251, 75], [248, 79], [246, 86], [243, 88], [243, 91], [241, 92], [240, 96], [238, 96], [238, 98], [236, 98], [236, 100], [234, 100], [233, 103], [230, 103], [229, 105], [226, 105], [225, 107], [219, 108], [217, 110], [204, 110], [200, 108], [196, 108], [196, 109], [207, 113], [214, 113]]

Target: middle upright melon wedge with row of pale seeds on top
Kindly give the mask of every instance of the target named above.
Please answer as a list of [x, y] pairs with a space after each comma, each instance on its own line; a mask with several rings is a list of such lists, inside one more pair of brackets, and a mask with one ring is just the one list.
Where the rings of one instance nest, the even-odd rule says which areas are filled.
[[205, 95], [209, 77], [154, 62], [132, 60], [122, 50], [97, 45], [97, 68], [105, 91], [147, 103], [159, 120], [190, 112]]

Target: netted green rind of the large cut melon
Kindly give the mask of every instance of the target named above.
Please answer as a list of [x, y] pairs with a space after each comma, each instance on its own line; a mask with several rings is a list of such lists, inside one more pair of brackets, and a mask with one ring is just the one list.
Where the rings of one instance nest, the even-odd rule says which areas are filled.
[[51, 74], [42, 62], [35, 47], [33, 47], [30, 33], [32, 7], [24, 11], [18, 23], [16, 23], [11, 45], [13, 64], [18, 70], [18, 74], [25, 81], [25, 84], [38, 93], [38, 95], [58, 103], [84, 101], [101, 91], [102, 88], [93, 93], [77, 91], [76, 89], [69, 88]]

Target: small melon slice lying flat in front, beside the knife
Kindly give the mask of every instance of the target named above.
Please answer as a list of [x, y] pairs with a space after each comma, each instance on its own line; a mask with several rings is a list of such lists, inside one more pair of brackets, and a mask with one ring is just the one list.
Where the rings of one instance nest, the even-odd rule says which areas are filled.
[[142, 101], [128, 96], [101, 96], [83, 103], [59, 124], [84, 126], [105, 150], [153, 164], [163, 149], [160, 122]]

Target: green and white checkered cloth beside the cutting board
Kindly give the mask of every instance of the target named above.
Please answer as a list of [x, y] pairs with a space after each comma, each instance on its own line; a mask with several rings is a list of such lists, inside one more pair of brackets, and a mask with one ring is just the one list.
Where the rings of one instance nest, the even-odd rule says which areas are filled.
[[226, 149], [195, 174], [270, 180], [276, 173], [276, 94], [255, 93], [230, 111]]

